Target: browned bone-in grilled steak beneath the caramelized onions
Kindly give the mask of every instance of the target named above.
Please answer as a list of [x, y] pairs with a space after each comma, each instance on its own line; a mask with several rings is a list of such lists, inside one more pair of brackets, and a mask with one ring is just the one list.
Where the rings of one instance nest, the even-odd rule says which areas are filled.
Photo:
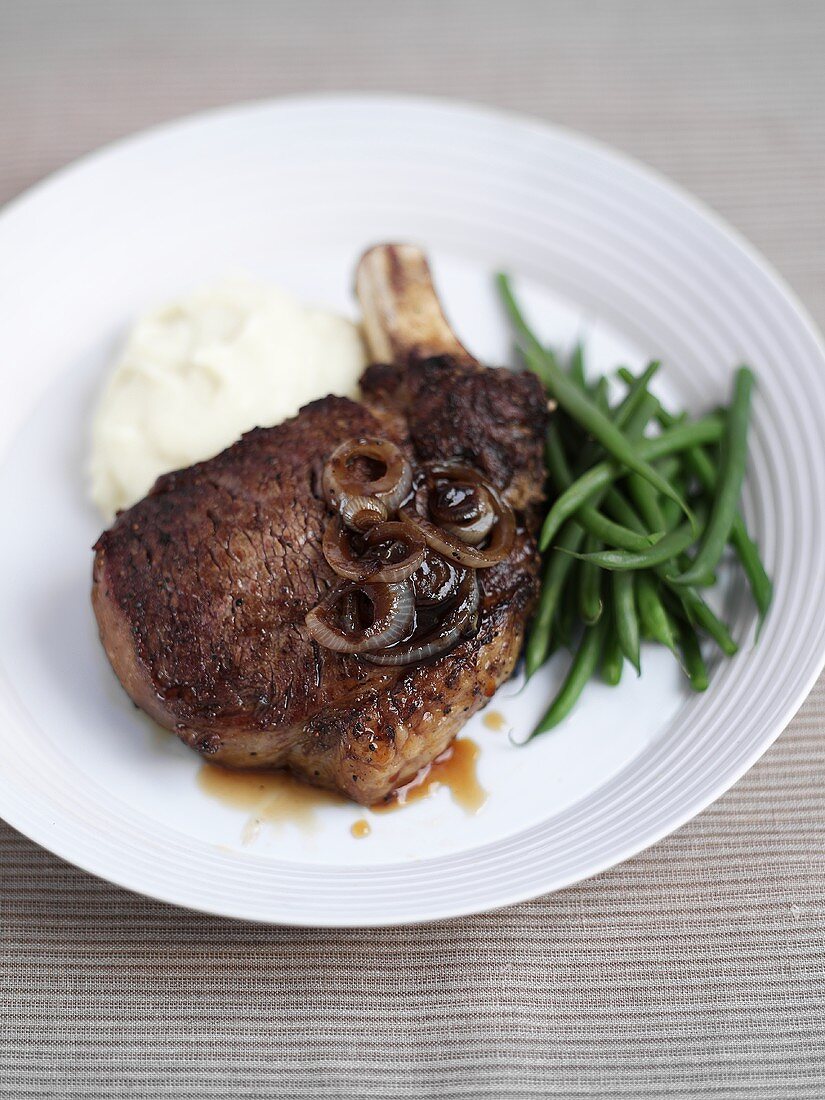
[[[210, 760], [289, 768], [375, 803], [450, 744], [506, 680], [536, 598], [532, 538], [546, 402], [526, 373], [479, 366], [447, 327], [421, 254], [381, 246], [358, 279], [371, 351], [363, 402], [324, 397], [161, 477], [96, 543], [92, 603], [132, 700]], [[354, 436], [414, 463], [461, 459], [520, 522], [480, 571], [477, 632], [406, 668], [320, 648], [307, 612], [338, 580], [321, 552], [323, 464]]]

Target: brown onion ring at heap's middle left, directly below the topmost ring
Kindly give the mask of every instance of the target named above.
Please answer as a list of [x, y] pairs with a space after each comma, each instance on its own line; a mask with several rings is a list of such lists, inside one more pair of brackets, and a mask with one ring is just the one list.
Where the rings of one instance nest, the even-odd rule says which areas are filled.
[[366, 548], [363, 553], [355, 552], [352, 541], [353, 536], [336, 516], [323, 532], [323, 557], [330, 568], [348, 581], [396, 584], [411, 576], [424, 561], [424, 539], [403, 524], [369, 527], [361, 535], [361, 544]]

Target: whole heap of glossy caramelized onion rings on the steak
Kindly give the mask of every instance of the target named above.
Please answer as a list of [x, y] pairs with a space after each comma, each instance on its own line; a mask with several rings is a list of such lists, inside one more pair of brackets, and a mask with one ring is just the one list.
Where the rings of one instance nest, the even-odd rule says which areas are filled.
[[333, 451], [322, 484], [338, 513], [323, 554], [344, 581], [306, 616], [318, 645], [404, 666], [447, 652], [476, 628], [475, 570], [503, 561], [516, 534], [513, 509], [477, 470], [433, 463], [403, 505], [413, 471], [402, 451], [351, 439]]

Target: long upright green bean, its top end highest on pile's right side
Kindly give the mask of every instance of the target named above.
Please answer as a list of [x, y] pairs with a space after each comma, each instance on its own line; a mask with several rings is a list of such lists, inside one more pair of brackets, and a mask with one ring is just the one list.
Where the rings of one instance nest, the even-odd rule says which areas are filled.
[[752, 371], [748, 370], [747, 366], [740, 366], [736, 372], [734, 398], [730, 403], [726, 430], [722, 439], [722, 470], [719, 471], [716, 496], [696, 557], [691, 566], [678, 578], [680, 584], [697, 584], [706, 581], [716, 569], [730, 536], [745, 480], [752, 388]]

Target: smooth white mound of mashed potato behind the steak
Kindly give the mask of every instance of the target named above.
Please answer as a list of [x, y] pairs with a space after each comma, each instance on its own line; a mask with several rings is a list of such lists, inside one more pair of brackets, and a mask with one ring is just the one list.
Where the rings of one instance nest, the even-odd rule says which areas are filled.
[[132, 328], [91, 430], [91, 497], [109, 521], [155, 479], [326, 394], [355, 396], [365, 365], [352, 321], [277, 287], [223, 279]]

